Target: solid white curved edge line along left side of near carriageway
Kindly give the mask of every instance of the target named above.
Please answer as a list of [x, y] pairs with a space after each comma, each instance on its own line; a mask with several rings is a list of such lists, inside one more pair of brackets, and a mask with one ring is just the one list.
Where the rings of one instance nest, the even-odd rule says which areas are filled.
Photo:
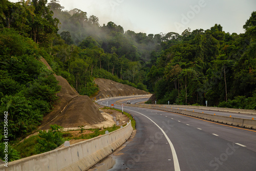
[[[129, 109], [127, 109], [127, 110], [129, 110]], [[132, 110], [129, 110], [129, 111], [132, 111]], [[136, 112], [136, 111], [132, 111], [132, 112]], [[162, 133], [164, 134], [165, 138], [167, 139], [167, 141], [168, 141], [168, 143], [170, 145], [170, 150], [172, 151], [172, 155], [173, 155], [173, 159], [174, 159], [174, 170], [175, 171], [180, 171], [180, 165], [179, 165], [179, 161], [178, 161], [178, 157], [177, 157], [174, 145], [170, 141], [169, 137], [165, 134], [163, 129], [161, 129], [161, 127], [156, 122], [154, 122], [151, 118], [147, 117], [146, 115], [143, 115], [142, 113], [139, 113], [139, 112], [136, 112], [136, 113], [138, 113], [138, 114], [140, 114], [142, 116], [145, 116], [147, 119], [150, 119], [162, 131]]]

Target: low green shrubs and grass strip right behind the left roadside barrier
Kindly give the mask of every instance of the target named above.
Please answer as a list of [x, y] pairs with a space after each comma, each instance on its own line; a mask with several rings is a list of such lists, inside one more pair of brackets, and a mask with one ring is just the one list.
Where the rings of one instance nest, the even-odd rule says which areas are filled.
[[[11, 149], [11, 160], [17, 160], [20, 158], [51, 151], [52, 149], [55, 149], [56, 147], [63, 144], [64, 141], [69, 141], [71, 139], [91, 139], [99, 135], [104, 135], [105, 131], [113, 132], [118, 129], [120, 129], [120, 126], [116, 126], [115, 124], [113, 127], [103, 127], [103, 130], [89, 129], [89, 131], [93, 132], [91, 134], [82, 134], [80, 129], [80, 134], [74, 136], [70, 133], [71, 131], [61, 132], [61, 126], [51, 125], [51, 129], [49, 131], [40, 131], [38, 135], [31, 136], [25, 139], [22, 143], [16, 144], [14, 147], [8, 147]], [[85, 129], [82, 130], [84, 131]], [[4, 150], [3, 145], [0, 146], [0, 150], [2, 149]], [[2, 157], [4, 156], [0, 156], [1, 159]]]

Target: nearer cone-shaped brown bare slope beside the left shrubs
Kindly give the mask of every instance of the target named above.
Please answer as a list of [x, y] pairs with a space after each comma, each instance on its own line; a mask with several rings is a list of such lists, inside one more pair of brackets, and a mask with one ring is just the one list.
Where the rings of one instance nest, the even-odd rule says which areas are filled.
[[[51, 70], [44, 58], [41, 58], [41, 61]], [[65, 78], [57, 75], [55, 77], [61, 86], [60, 92], [57, 93], [59, 99], [55, 102], [53, 111], [44, 117], [39, 129], [49, 129], [50, 124], [77, 127], [104, 121], [103, 116], [88, 96], [79, 96]]]

